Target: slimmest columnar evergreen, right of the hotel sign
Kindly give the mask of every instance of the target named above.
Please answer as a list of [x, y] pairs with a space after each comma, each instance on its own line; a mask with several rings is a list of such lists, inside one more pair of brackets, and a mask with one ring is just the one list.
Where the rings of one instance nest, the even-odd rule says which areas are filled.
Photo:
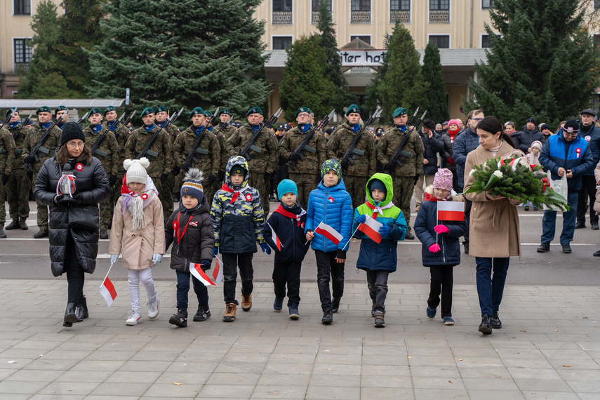
[[429, 100], [427, 118], [434, 120], [436, 123], [448, 121], [450, 114], [448, 114], [444, 72], [441, 71], [439, 50], [432, 42], [429, 42], [425, 47], [422, 72], [423, 79], [429, 83], [429, 90], [427, 91], [427, 99]]

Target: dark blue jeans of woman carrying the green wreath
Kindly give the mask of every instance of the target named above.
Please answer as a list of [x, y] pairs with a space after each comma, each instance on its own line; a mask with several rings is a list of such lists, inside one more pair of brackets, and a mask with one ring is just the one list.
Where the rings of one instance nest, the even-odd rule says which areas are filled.
[[482, 317], [486, 314], [492, 315], [500, 307], [509, 260], [508, 257], [475, 258], [477, 264], [477, 294], [479, 295], [479, 308], [481, 308]]

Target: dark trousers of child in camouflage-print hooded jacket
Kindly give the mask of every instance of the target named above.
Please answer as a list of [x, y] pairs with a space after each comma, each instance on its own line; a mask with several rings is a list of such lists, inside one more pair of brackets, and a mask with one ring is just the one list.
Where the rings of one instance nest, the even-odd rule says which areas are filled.
[[254, 288], [252, 279], [254, 269], [252, 268], [252, 256], [254, 253], [222, 254], [223, 258], [223, 296], [225, 302], [239, 303], [235, 300], [235, 285], [237, 269], [241, 278], [241, 294], [251, 295]]

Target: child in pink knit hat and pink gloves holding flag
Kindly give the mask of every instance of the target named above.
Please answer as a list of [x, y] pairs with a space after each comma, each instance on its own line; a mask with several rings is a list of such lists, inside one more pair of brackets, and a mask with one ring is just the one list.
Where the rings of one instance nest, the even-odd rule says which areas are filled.
[[415, 234], [422, 243], [422, 260], [431, 272], [427, 317], [434, 319], [440, 304], [444, 325], [452, 319], [453, 267], [460, 264], [460, 236], [467, 231], [462, 196], [452, 192], [452, 172], [440, 168], [432, 186], [425, 189], [415, 220]]

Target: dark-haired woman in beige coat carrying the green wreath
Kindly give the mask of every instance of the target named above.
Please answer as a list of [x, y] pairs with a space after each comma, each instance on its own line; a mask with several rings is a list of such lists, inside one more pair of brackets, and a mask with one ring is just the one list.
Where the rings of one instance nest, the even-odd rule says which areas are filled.
[[[495, 116], [486, 116], [479, 122], [477, 136], [479, 147], [467, 154], [465, 192], [475, 180], [470, 174], [473, 166], [485, 164], [488, 159], [514, 150], [511, 138], [504, 133]], [[473, 202], [469, 255], [475, 257], [477, 264], [477, 293], [482, 317], [479, 332], [489, 334], [492, 328], [502, 328], [498, 308], [504, 292], [509, 256], [521, 258], [519, 215], [516, 213], [520, 201], [505, 196], [493, 197], [488, 192], [467, 193], [465, 197]]]

